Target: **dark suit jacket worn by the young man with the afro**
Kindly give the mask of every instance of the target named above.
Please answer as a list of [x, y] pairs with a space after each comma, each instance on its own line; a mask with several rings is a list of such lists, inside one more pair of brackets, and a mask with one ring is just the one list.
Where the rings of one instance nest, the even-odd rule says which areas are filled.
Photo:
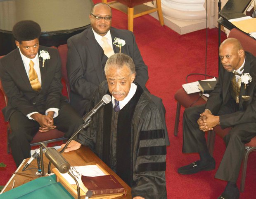
[[34, 111], [45, 114], [49, 108], [59, 109], [60, 102], [66, 100], [62, 96], [61, 60], [57, 49], [40, 46], [38, 53], [40, 50], [48, 51], [50, 59], [45, 60], [42, 67], [43, 59], [39, 57], [42, 79], [39, 92], [31, 87], [18, 48], [0, 59], [0, 78], [8, 97], [8, 105], [2, 110], [5, 120], [9, 120], [14, 111], [24, 116]]

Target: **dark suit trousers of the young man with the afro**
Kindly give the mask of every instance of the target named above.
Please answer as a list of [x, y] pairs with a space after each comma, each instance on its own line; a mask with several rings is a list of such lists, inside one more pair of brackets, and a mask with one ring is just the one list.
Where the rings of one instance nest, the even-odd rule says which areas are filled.
[[[18, 167], [25, 158], [31, 156], [30, 143], [38, 132], [40, 125], [35, 120], [28, 119], [20, 111], [14, 112], [9, 122], [12, 129], [9, 141], [12, 156]], [[54, 125], [57, 126], [57, 129], [64, 132], [65, 137], [69, 138], [82, 124], [83, 120], [74, 109], [67, 102], [61, 102], [59, 115], [54, 118]]]

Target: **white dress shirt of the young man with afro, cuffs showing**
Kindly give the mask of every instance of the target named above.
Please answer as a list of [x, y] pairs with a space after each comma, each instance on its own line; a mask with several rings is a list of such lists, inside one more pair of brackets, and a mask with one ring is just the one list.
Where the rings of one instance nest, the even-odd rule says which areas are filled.
[[[30, 69], [30, 66], [29, 66], [29, 63], [30, 63], [30, 60], [32, 60], [34, 62], [34, 69], [37, 73], [37, 76], [38, 76], [38, 81], [40, 82], [40, 84], [42, 85], [42, 79], [41, 79], [41, 72], [40, 72], [40, 65], [39, 65], [39, 57], [38, 57], [38, 54], [36, 55], [35, 58], [33, 59], [30, 59], [30, 58], [27, 58], [26, 56], [24, 56], [22, 53], [21, 53], [21, 50], [19, 49], [19, 53], [21, 55], [21, 59], [23, 61], [23, 64], [24, 64], [24, 67], [25, 67], [25, 70], [26, 70], [26, 73], [27, 73], [27, 76], [28, 76], [28, 79], [29, 79], [29, 69]], [[48, 115], [48, 112], [49, 111], [54, 111], [54, 115], [53, 115], [53, 118], [56, 118], [58, 115], [59, 115], [59, 109], [57, 108], [49, 108], [45, 111], [45, 115]], [[31, 120], [33, 120], [33, 118], [31, 118], [31, 115], [33, 115], [34, 113], [38, 113], [38, 112], [32, 112], [32, 113], [28, 113], [27, 114], [27, 117]]]

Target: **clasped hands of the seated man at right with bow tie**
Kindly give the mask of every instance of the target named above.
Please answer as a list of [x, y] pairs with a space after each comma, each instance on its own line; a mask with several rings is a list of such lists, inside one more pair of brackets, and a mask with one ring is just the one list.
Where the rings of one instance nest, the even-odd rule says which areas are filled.
[[205, 111], [200, 114], [200, 118], [197, 120], [199, 129], [204, 132], [213, 130], [213, 127], [218, 125], [219, 122], [220, 117], [214, 116], [209, 109], [205, 109]]

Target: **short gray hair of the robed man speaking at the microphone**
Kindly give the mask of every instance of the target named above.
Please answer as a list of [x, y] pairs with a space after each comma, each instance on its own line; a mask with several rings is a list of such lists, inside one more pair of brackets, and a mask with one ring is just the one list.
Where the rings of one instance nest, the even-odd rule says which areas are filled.
[[127, 66], [130, 69], [131, 74], [133, 74], [133, 73], [136, 74], [133, 59], [130, 58], [128, 55], [123, 54], [123, 53], [115, 53], [114, 55], [112, 55], [107, 60], [104, 71], [106, 73], [106, 71], [110, 67], [116, 67], [118, 69], [122, 69], [123, 66]]

